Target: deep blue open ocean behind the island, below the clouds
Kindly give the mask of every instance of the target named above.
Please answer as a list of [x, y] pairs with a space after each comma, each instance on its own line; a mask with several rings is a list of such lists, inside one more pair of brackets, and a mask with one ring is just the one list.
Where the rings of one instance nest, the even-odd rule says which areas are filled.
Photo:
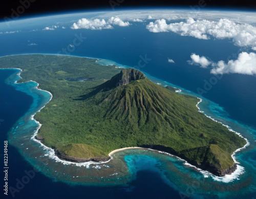
[[[41, 27], [44, 26], [40, 26], [40, 29]], [[151, 60], [140, 70], [195, 93], [198, 93], [198, 88], [204, 89], [205, 81], [209, 82], [214, 75], [210, 74], [209, 69], [189, 65], [187, 60], [190, 60], [191, 53], [209, 57], [215, 62], [227, 62], [236, 59], [241, 52], [240, 48], [228, 39], [200, 40], [172, 32], [152, 33], [141, 23], [102, 31], [67, 28], [29, 32], [36, 28], [27, 28], [27, 31], [25, 29], [14, 34], [2, 34], [0, 56], [24, 53], [67, 54], [62, 49], [67, 49], [73, 43], [75, 34], [81, 34], [86, 39], [68, 54], [109, 59], [130, 67], [138, 65], [140, 56], [146, 55]], [[28, 46], [28, 40], [37, 46]], [[174, 59], [175, 64], [168, 63], [167, 58]], [[254, 76], [228, 74], [218, 80], [210, 91], [203, 93], [203, 97], [224, 107], [230, 118], [255, 127], [255, 84]]]

